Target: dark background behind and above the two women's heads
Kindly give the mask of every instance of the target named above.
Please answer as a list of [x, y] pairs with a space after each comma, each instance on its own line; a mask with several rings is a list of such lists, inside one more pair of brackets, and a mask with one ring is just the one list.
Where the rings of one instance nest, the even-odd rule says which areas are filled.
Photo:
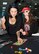
[[[0, 17], [2, 17], [2, 15], [4, 14], [3, 12], [5, 12], [3, 10], [6, 9], [3, 9], [3, 7], [6, 7], [7, 5], [15, 1], [18, 3], [18, 7], [19, 3], [21, 4], [19, 11], [21, 11], [23, 6], [28, 5], [32, 9], [33, 15], [39, 18], [39, 0], [0, 0]], [[4, 5], [3, 2], [7, 2], [7, 4]]]

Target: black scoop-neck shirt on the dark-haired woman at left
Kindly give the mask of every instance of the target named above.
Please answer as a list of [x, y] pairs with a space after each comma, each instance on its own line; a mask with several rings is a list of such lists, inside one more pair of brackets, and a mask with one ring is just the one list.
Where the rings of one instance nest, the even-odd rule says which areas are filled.
[[16, 35], [16, 32], [20, 30], [21, 28], [21, 17], [18, 15], [17, 18], [16, 18], [16, 23], [14, 25], [11, 25], [9, 23], [9, 19], [8, 18], [5, 18], [6, 19], [6, 30], [8, 32], [9, 35]]

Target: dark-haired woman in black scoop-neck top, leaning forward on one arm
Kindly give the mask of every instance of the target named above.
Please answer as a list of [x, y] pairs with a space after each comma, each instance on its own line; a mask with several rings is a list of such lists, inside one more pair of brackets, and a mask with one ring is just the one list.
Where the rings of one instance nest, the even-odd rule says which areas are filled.
[[2, 18], [2, 28], [7, 30], [7, 33], [13, 42], [22, 41], [19, 37], [19, 30], [21, 28], [21, 18], [18, 14], [18, 8], [15, 4], [10, 4], [7, 15]]

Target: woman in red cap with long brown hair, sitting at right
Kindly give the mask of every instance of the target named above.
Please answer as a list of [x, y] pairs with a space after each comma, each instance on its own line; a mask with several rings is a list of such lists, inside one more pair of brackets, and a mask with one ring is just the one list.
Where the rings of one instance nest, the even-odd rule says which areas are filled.
[[20, 32], [22, 32], [23, 35], [31, 36], [32, 33], [36, 33], [38, 31], [37, 22], [31, 14], [31, 9], [29, 7], [24, 7], [22, 9], [22, 13], [24, 29], [20, 29]]

